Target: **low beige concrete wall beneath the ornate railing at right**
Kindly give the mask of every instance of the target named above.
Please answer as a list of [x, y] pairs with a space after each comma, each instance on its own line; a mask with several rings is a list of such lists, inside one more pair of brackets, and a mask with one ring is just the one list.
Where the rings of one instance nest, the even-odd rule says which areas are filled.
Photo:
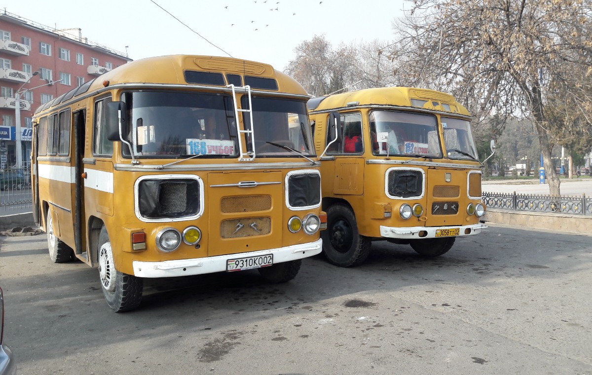
[[592, 235], [592, 216], [487, 209], [485, 221], [525, 228]]

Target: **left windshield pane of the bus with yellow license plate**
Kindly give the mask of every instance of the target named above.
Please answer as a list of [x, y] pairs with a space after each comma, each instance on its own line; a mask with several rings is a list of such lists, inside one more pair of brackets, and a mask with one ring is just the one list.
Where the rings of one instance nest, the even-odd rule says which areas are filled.
[[374, 155], [442, 158], [436, 124], [436, 117], [429, 114], [372, 111], [372, 152]]

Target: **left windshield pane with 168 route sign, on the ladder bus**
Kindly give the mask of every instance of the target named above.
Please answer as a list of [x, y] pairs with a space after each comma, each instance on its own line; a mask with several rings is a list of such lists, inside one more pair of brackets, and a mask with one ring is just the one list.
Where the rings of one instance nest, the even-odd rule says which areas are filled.
[[[141, 91], [123, 94], [127, 140], [136, 157], [238, 155], [232, 97], [203, 92]], [[123, 153], [130, 155], [127, 146]]]

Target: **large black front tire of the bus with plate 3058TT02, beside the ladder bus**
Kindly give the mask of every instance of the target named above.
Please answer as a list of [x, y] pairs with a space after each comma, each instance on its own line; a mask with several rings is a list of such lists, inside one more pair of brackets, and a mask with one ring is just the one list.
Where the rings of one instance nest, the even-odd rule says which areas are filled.
[[358, 232], [352, 209], [345, 204], [333, 204], [327, 209], [327, 229], [321, 232], [323, 254], [339, 267], [361, 264], [370, 254], [372, 242]]

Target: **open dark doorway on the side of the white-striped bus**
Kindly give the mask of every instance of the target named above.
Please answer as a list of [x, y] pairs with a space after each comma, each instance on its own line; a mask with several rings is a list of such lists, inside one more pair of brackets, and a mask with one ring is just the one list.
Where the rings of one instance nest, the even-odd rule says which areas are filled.
[[76, 255], [82, 256], [85, 262], [89, 262], [88, 258], [83, 254], [86, 252], [86, 225], [84, 215], [84, 189], [82, 188], [82, 174], [84, 166], [82, 158], [84, 157], [85, 136], [86, 136], [86, 111], [80, 110], [74, 113], [73, 120], [73, 147], [72, 155], [74, 162], [74, 196], [73, 196], [73, 212], [72, 219], [74, 222], [74, 252]]

